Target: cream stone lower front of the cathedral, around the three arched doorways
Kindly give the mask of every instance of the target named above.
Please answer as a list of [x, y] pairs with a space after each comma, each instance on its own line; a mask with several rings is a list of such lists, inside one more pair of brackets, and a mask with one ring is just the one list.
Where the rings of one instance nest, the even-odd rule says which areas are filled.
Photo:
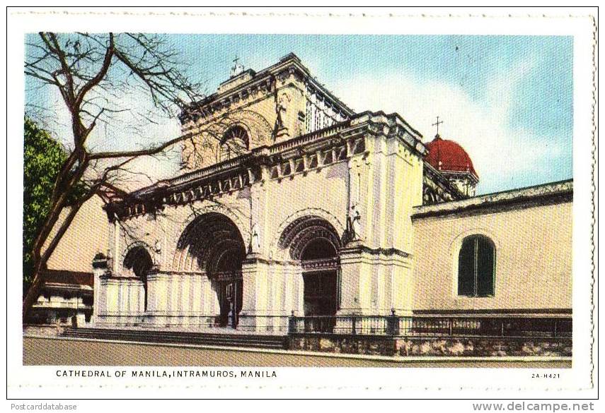
[[[224, 217], [239, 236], [231, 241], [246, 250], [240, 328], [284, 330], [292, 311], [304, 314], [300, 254], [313, 239], [338, 250], [335, 266], [323, 263], [340, 279], [338, 313], [410, 311], [410, 215], [422, 202], [422, 150], [398, 116], [364, 113], [255, 148], [245, 162], [224, 162], [208, 174], [201, 169], [186, 176], [178, 192], [170, 182], [160, 205], [156, 188], [138, 193], [132, 205], [110, 205], [113, 263], [108, 276], [98, 271], [96, 322], [212, 324], [220, 306], [217, 280], [188, 250], [197, 246], [180, 244], [185, 229], [209, 214]], [[223, 171], [230, 177], [219, 188], [214, 176]], [[408, 196], [393, 198], [390, 188]], [[354, 237], [347, 225], [352, 211], [360, 217]], [[154, 262], [146, 311], [139, 304], [142, 281], [124, 277], [123, 262], [134, 247], [149, 251]]]

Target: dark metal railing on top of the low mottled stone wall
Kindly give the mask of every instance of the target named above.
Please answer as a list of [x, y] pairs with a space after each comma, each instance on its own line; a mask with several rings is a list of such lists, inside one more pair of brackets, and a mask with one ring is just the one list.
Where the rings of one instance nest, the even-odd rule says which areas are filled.
[[291, 316], [288, 333], [393, 336], [571, 337], [572, 318], [519, 316]]

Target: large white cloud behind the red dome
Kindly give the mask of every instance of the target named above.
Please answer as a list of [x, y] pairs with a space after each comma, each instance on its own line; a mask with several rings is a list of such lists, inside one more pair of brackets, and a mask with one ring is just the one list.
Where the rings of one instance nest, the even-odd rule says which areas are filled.
[[[346, 78], [335, 85], [335, 92], [358, 112], [383, 110], [401, 114], [416, 128], [425, 143], [434, 137], [435, 118], [442, 138], [456, 140], [468, 152], [480, 177], [479, 192], [497, 191], [526, 184], [524, 174], [536, 176], [536, 167], [548, 164], [561, 155], [555, 145], [544, 145], [548, 136], [509, 125], [509, 111], [515, 84], [529, 72], [526, 64], [513, 68], [511, 76], [490, 83], [485, 99], [473, 101], [468, 93], [453, 85], [406, 77], [386, 76]], [[548, 179], [548, 170], [543, 171]], [[539, 179], [539, 178], [538, 178]], [[531, 179], [529, 179], [531, 181]]]

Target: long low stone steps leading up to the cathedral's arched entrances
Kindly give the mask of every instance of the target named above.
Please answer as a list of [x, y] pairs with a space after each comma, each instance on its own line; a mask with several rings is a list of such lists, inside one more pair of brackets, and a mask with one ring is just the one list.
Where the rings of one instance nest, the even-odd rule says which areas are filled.
[[97, 340], [154, 342], [158, 344], [171, 343], [212, 345], [218, 347], [287, 349], [287, 337], [283, 335], [195, 333], [187, 331], [121, 330], [110, 328], [67, 328], [62, 336]]

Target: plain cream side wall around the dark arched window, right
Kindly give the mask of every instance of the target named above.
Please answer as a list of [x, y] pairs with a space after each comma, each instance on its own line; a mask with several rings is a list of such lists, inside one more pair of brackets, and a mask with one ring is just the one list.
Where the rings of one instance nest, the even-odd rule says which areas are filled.
[[[415, 310], [571, 309], [572, 203], [413, 221]], [[495, 244], [494, 297], [461, 297], [461, 240], [483, 234]]]

